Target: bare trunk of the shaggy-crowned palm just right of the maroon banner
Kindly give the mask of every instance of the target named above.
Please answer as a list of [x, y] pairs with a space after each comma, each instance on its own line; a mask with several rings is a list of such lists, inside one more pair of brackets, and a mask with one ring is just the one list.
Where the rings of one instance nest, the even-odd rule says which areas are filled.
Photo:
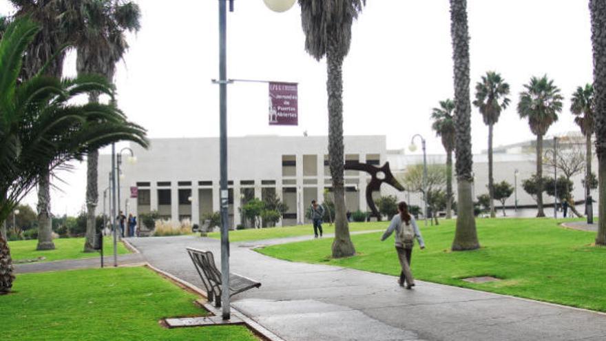
[[333, 258], [353, 256], [355, 248], [349, 236], [349, 226], [345, 209], [344, 191], [344, 144], [343, 144], [343, 56], [339, 52], [337, 41], [328, 40], [326, 49], [326, 67], [328, 80], [328, 154], [330, 155], [333, 194], [335, 196], [335, 240], [333, 240]]

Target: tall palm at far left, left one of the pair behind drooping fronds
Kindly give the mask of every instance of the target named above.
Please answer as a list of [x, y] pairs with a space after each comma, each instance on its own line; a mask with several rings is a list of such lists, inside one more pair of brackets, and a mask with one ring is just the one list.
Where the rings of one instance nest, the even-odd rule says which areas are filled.
[[[29, 17], [39, 23], [39, 33], [23, 58], [22, 74], [25, 79], [34, 76], [45, 63], [44, 73], [61, 78], [65, 53], [63, 46], [70, 40], [74, 31], [65, 30], [67, 17], [65, 5], [70, 1], [62, 0], [10, 0], [17, 9], [14, 17]], [[38, 184], [38, 245], [36, 249], [54, 249], [52, 242], [52, 223], [50, 218], [50, 172], [42, 172]]]

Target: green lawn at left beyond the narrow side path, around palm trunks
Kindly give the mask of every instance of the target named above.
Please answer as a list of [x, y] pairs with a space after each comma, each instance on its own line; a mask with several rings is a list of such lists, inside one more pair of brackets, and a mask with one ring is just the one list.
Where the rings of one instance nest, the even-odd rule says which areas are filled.
[[[10, 254], [13, 260], [36, 259], [40, 256], [46, 257], [43, 262], [51, 260], [79, 259], [98, 257], [98, 252], [87, 254], [83, 252], [84, 238], [60, 238], [54, 239], [54, 250], [36, 251], [38, 240], [18, 240], [8, 242]], [[114, 253], [114, 242], [112, 237], [103, 239], [103, 253], [111, 255]], [[130, 251], [121, 243], [118, 242], [118, 254], [129, 254]]]

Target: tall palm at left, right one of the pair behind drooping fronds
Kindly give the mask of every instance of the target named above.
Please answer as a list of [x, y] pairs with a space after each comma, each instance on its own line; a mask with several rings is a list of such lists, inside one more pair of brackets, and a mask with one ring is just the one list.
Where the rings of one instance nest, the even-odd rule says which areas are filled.
[[[140, 28], [140, 10], [136, 3], [113, 0], [74, 0], [74, 11], [83, 18], [79, 21], [79, 39], [76, 42], [78, 58], [76, 68], [83, 74], [101, 74], [114, 78], [116, 63], [123, 58], [128, 44], [126, 31]], [[98, 94], [90, 94], [91, 103], [98, 102]], [[86, 183], [86, 238], [84, 251], [94, 251], [95, 209], [98, 202], [98, 151], [87, 155]]]

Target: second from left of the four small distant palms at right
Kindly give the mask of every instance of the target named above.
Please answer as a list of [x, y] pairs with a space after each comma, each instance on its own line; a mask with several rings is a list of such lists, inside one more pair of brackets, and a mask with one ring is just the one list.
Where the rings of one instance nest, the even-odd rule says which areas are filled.
[[482, 81], [476, 85], [476, 100], [473, 102], [480, 110], [484, 118], [484, 124], [488, 125], [488, 195], [490, 196], [490, 218], [497, 215], [494, 212], [494, 178], [492, 177], [492, 129], [499, 121], [501, 111], [505, 110], [510, 99], [505, 97], [509, 94], [509, 84], [501, 78], [497, 72], [486, 72]]

